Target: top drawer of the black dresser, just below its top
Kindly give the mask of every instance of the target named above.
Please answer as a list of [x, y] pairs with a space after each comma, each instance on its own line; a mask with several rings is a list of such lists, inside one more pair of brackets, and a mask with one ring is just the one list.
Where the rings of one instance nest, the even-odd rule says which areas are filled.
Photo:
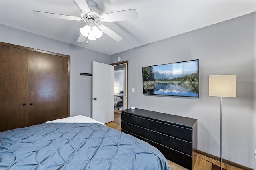
[[125, 113], [121, 114], [121, 119], [122, 121], [131, 123], [133, 125], [148, 128], [155, 132], [160, 132], [162, 134], [167, 134], [176, 138], [180, 138], [182, 140], [192, 142], [192, 129], [189, 128], [178, 127], [176, 125], [153, 121], [150, 119], [137, 117], [134, 115], [128, 115]]

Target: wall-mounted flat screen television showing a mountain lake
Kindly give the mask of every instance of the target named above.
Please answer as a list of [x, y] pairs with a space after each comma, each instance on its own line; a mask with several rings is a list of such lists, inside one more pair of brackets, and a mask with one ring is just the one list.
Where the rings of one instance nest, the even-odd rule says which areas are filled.
[[199, 97], [198, 59], [142, 67], [143, 94]]

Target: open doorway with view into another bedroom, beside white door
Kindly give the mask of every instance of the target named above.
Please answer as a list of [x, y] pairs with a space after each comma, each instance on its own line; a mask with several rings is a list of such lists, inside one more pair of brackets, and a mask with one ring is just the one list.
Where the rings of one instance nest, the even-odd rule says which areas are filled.
[[112, 89], [114, 90], [114, 112], [112, 118], [114, 123], [121, 124], [121, 111], [128, 108], [128, 61], [112, 63], [114, 79]]

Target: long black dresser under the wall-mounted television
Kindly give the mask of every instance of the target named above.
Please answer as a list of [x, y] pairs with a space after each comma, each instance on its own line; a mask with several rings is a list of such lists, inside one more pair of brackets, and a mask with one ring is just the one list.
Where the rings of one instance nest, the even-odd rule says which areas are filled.
[[197, 119], [143, 109], [121, 113], [122, 132], [155, 146], [164, 156], [193, 169], [197, 151]]

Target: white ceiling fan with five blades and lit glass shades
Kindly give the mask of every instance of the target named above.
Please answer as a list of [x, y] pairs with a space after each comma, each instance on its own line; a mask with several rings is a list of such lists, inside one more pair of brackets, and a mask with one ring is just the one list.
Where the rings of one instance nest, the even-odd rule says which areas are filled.
[[89, 40], [96, 40], [102, 36], [102, 32], [116, 40], [117, 42], [121, 41], [123, 38], [105, 26], [100, 24], [100, 22], [115, 22], [115, 21], [124, 21], [124, 20], [135, 20], [137, 19], [137, 12], [135, 9], [123, 10], [117, 12], [111, 12], [107, 14], [101, 14], [101, 12], [96, 8], [97, 4], [92, 0], [74, 0], [78, 7], [81, 9], [80, 17], [78, 16], [68, 16], [62, 14], [54, 14], [49, 12], [33, 11], [37, 16], [46, 17], [46, 18], [57, 18], [63, 20], [75, 20], [75, 21], [84, 21], [86, 26], [80, 28], [80, 36], [78, 37], [78, 42], [88, 43]]

